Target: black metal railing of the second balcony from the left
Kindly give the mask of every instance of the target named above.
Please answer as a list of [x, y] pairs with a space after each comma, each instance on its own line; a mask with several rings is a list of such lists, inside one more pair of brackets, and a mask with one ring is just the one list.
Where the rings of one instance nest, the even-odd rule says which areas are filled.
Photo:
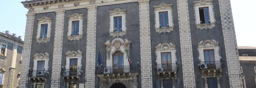
[[76, 68], [76, 69], [62, 69], [63, 76], [81, 76], [83, 70]]

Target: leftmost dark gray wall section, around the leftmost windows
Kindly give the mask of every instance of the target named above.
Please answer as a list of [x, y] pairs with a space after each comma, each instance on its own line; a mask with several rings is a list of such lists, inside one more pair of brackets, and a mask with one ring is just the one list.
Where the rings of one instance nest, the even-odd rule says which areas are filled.
[[[37, 43], [36, 42], [36, 35], [37, 35], [37, 19], [41, 19], [42, 17], [48, 17], [48, 18], [53, 18], [52, 19], [52, 25], [51, 25], [51, 38], [50, 41], [47, 43]], [[49, 57], [49, 63], [48, 63], [48, 71], [49, 71], [49, 76], [48, 78], [52, 77], [52, 66], [53, 66], [53, 43], [54, 43], [54, 34], [55, 34], [55, 21], [56, 21], [56, 13], [55, 12], [48, 12], [48, 13], [38, 13], [35, 14], [34, 18], [34, 25], [33, 25], [33, 36], [32, 36], [32, 46], [31, 46], [31, 55], [30, 55], [30, 65], [29, 67], [31, 70], [33, 70], [33, 55], [35, 53], [45, 53], [48, 52], [50, 54]], [[29, 85], [31, 84], [31, 81], [29, 80]], [[47, 83], [45, 85], [45, 88], [50, 88], [51, 87], [51, 79], [47, 79]]]

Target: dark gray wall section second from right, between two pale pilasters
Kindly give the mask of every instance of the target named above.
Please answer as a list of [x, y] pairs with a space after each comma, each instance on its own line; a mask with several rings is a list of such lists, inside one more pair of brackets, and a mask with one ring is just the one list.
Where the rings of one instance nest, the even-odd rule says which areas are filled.
[[[174, 29], [170, 33], [158, 33], [155, 29], [155, 12], [154, 6], [159, 6], [161, 3], [173, 4], [172, 15]], [[149, 15], [150, 15], [150, 36], [151, 36], [151, 58], [152, 58], [152, 78], [153, 78], [153, 88], [161, 87], [160, 80], [156, 72], [156, 46], [159, 43], [173, 43], [176, 45], [176, 58], [179, 70], [177, 72], [177, 80], [175, 80], [176, 88], [183, 87], [182, 78], [182, 64], [181, 64], [181, 44], [180, 44], [180, 32], [179, 32], [179, 20], [178, 20], [178, 8], [176, 0], [150, 0], [149, 2]]]

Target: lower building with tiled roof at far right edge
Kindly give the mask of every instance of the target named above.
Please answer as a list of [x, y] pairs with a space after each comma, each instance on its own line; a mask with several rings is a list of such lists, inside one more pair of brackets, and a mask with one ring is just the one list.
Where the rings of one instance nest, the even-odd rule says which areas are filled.
[[243, 88], [256, 88], [256, 47], [238, 47]]

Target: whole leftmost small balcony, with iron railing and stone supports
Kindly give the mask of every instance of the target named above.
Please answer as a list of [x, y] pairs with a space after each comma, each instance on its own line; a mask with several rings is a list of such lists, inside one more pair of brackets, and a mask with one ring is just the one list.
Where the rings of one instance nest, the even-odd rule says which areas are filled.
[[28, 77], [32, 82], [46, 82], [49, 72], [46, 70], [29, 71]]

